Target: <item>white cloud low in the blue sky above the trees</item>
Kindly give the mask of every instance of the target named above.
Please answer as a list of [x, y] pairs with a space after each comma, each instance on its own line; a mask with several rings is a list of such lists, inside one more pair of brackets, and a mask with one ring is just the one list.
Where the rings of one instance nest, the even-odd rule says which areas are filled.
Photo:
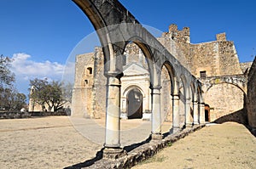
[[32, 60], [32, 56], [29, 54], [14, 54], [12, 59], [11, 70], [15, 73], [16, 87], [22, 93], [27, 93], [29, 80], [47, 78], [49, 80], [61, 81], [65, 70], [64, 80], [67, 76], [73, 76], [71, 74], [74, 72], [72, 64], [67, 64], [66, 66], [57, 62], [50, 62], [49, 60], [36, 62]]

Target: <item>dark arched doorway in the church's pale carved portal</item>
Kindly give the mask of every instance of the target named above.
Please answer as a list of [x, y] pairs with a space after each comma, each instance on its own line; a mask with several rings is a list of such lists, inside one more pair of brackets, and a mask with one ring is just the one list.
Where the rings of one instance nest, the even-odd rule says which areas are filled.
[[143, 118], [143, 94], [137, 88], [131, 89], [127, 94], [127, 117], [128, 119]]

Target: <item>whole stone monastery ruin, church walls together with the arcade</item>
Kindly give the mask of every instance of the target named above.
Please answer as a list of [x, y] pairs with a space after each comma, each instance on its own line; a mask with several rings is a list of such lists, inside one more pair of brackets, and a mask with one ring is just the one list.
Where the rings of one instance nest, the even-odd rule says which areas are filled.
[[[77, 57], [73, 115], [106, 118], [105, 157], [123, 152], [120, 118], [150, 119], [152, 139], [161, 139], [164, 120], [172, 121], [170, 132], [177, 132], [243, 110], [249, 65], [241, 70], [234, 43], [225, 34], [214, 42], [191, 44], [188, 27], [178, 31], [170, 25], [156, 39], [118, 1], [73, 2], [89, 17], [102, 44]], [[225, 98], [230, 92], [235, 101]], [[218, 103], [220, 97], [227, 99], [224, 104]], [[232, 106], [225, 105], [229, 99]]]

